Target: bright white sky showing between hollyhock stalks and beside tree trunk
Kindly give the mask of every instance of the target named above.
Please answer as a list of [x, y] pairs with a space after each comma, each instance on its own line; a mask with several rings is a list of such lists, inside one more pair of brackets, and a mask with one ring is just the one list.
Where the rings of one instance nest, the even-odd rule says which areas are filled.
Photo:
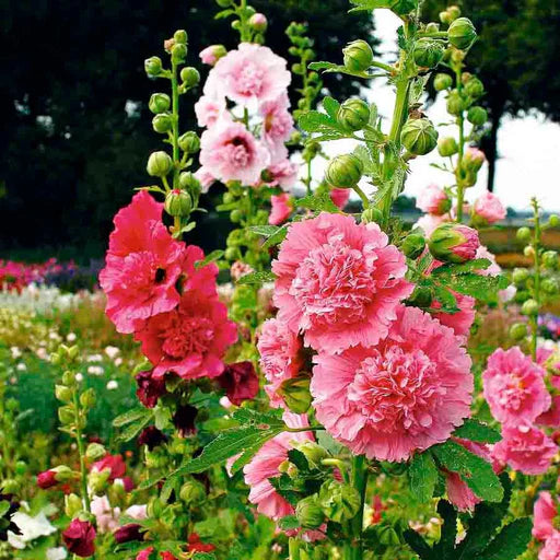
[[[399, 25], [400, 20], [389, 10], [375, 10], [375, 32], [382, 40], [380, 51], [386, 62], [395, 61], [395, 37]], [[370, 102], [376, 103], [380, 115], [386, 118], [384, 130], [387, 130], [393, 113], [393, 89], [380, 78], [373, 80], [363, 93]], [[444, 96], [440, 95], [425, 113], [434, 124], [448, 120]], [[329, 155], [348, 153], [352, 150], [352, 142], [327, 142], [324, 148]], [[506, 117], [499, 130], [498, 148], [500, 159], [497, 163], [494, 192], [504, 205], [515, 210], [528, 210], [530, 197], [537, 196], [547, 210], [559, 211], [560, 180], [556, 162], [560, 155], [560, 125], [546, 121], [541, 115]], [[314, 173], [319, 174], [325, 162], [316, 162]], [[406, 183], [405, 195], [417, 196], [430, 183], [446, 185], [448, 175], [431, 167], [432, 162], [441, 162], [436, 150], [411, 162], [411, 174]], [[472, 200], [486, 188], [486, 177], [485, 165], [479, 173], [477, 186], [468, 190], [467, 199]]]

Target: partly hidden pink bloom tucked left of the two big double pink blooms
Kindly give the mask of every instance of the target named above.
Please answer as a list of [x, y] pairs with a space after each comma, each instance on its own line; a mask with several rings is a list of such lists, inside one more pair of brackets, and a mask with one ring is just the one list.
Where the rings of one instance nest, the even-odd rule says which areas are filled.
[[283, 381], [295, 377], [303, 366], [301, 338], [278, 319], [268, 319], [262, 324], [257, 348], [260, 353], [260, 368], [269, 383], [265, 390], [270, 398], [270, 405], [275, 408], [284, 406], [277, 392]]

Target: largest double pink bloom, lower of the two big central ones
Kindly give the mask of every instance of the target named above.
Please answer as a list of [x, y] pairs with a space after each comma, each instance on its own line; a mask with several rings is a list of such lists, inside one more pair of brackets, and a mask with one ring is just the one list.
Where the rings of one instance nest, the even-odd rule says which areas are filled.
[[376, 347], [314, 360], [317, 420], [357, 455], [406, 460], [470, 416], [470, 358], [450, 328], [417, 307], [399, 306]]

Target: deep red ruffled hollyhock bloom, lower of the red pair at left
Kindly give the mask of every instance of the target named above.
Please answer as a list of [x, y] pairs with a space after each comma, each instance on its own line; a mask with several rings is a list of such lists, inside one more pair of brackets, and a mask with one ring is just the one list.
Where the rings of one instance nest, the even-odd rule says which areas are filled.
[[223, 372], [222, 358], [237, 340], [237, 328], [228, 319], [228, 308], [218, 295], [202, 290], [202, 285], [185, 290], [175, 310], [151, 317], [136, 334], [154, 365], [154, 377], [173, 372], [195, 380]]

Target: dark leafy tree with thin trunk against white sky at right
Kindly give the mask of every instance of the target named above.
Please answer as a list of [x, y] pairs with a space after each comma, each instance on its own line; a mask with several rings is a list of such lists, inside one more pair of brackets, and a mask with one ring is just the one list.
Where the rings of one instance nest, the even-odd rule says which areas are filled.
[[[451, 3], [427, 0], [424, 13], [439, 21], [438, 13]], [[560, 121], [560, 0], [464, 0], [462, 9], [479, 33], [467, 60], [487, 90], [481, 104], [490, 125], [482, 149], [492, 190], [502, 118], [538, 109]]]

